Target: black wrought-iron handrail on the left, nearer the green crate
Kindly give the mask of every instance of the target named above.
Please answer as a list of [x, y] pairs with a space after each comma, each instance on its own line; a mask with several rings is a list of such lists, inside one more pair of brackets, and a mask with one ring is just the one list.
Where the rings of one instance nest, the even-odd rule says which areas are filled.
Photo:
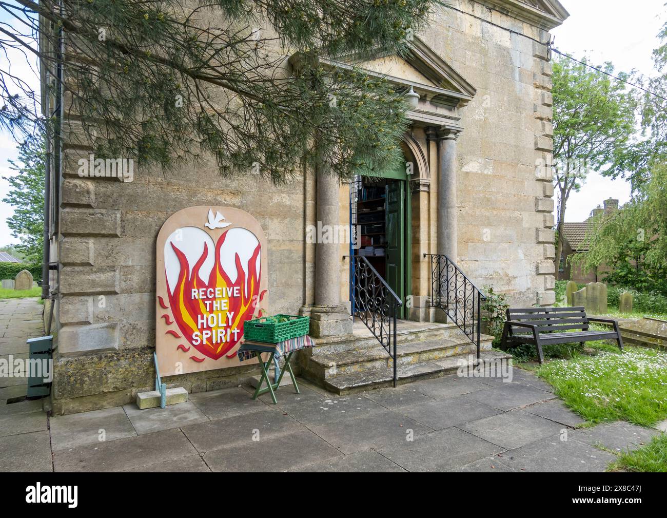
[[356, 316], [392, 356], [396, 386], [396, 314], [403, 305], [399, 296], [364, 256], [346, 256], [350, 268], [350, 304]]

